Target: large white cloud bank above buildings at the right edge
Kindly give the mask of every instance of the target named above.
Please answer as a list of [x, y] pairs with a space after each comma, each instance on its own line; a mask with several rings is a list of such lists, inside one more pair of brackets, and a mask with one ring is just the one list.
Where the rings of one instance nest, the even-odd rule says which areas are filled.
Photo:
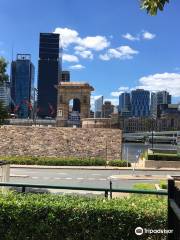
[[156, 73], [139, 79], [139, 86], [149, 91], [167, 90], [174, 97], [180, 97], [180, 74]]

